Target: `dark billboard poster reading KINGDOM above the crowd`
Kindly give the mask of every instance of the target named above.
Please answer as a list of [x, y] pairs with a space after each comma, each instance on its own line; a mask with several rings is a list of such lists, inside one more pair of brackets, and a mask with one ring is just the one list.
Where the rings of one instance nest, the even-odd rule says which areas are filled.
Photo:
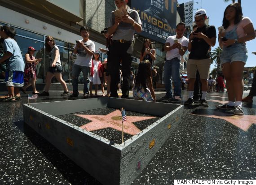
[[177, 0], [131, 0], [131, 9], [141, 18], [140, 35], [165, 43], [168, 36], [176, 34]]

